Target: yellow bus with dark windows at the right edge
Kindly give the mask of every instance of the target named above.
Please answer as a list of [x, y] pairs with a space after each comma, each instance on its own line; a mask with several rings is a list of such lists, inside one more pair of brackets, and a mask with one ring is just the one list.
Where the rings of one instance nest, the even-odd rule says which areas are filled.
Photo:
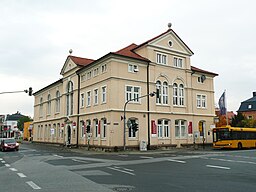
[[256, 147], [256, 128], [217, 127], [213, 129], [214, 148], [254, 148]]

